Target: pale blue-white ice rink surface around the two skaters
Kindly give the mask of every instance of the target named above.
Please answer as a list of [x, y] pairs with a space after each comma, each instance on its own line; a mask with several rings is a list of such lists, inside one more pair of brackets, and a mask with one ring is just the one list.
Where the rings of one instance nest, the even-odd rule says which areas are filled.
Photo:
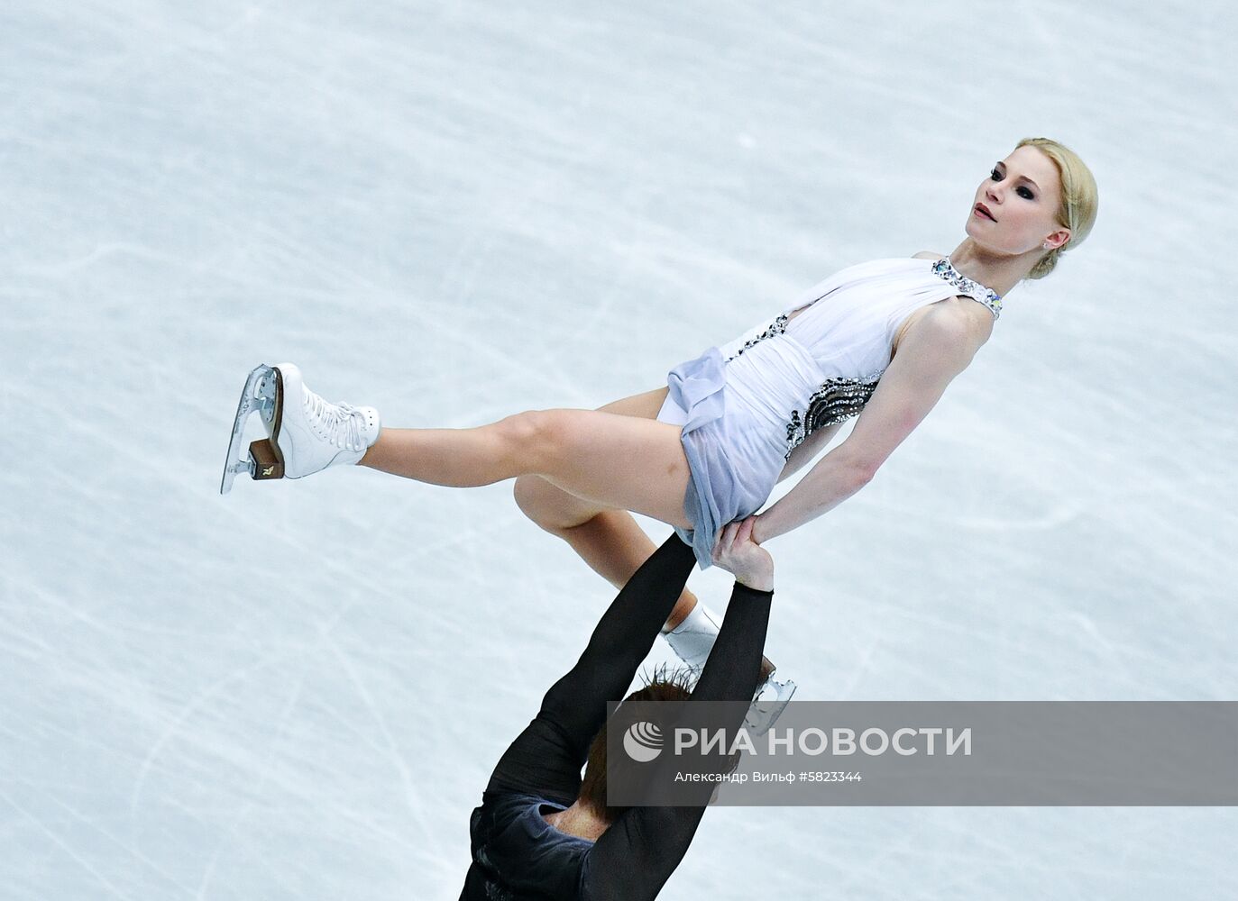
[[[4, 4], [0, 899], [454, 899], [610, 598], [510, 485], [219, 498], [251, 366], [390, 425], [598, 406], [952, 250], [1028, 135], [1099, 223], [771, 542], [769, 655], [801, 698], [1238, 698], [1234, 16]], [[664, 897], [1214, 899], [1236, 843], [1226, 808], [721, 808]]]

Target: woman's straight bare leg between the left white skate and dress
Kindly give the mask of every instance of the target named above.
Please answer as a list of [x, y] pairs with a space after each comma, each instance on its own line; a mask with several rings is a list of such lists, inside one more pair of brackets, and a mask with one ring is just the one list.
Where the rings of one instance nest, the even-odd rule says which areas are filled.
[[594, 410], [541, 410], [478, 428], [384, 428], [361, 465], [436, 485], [540, 475], [599, 507], [688, 527], [680, 428]]

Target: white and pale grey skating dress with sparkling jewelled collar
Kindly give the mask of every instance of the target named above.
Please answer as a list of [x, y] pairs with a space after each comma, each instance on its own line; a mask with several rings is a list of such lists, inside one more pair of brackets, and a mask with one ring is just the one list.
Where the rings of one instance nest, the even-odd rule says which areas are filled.
[[693, 528], [678, 532], [702, 568], [711, 566], [718, 530], [761, 507], [805, 438], [864, 408], [906, 318], [956, 296], [983, 303], [994, 318], [1002, 311], [1002, 298], [948, 257], [862, 262], [773, 322], [667, 374], [657, 418], [683, 427], [691, 469], [683, 511]]

